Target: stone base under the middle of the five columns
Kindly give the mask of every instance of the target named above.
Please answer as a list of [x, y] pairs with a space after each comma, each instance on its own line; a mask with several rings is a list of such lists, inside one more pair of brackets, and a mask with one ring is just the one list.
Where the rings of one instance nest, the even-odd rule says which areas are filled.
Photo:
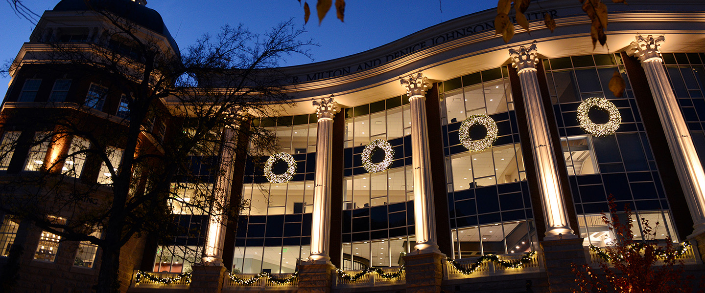
[[439, 293], [443, 282], [443, 259], [441, 253], [407, 254], [406, 293]]

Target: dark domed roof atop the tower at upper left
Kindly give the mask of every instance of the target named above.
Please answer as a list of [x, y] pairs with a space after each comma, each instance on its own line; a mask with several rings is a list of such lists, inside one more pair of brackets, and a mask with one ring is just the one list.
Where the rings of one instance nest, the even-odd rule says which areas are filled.
[[[87, 6], [90, 3], [92, 8]], [[164, 35], [171, 46], [178, 53], [178, 46], [171, 33], [166, 29], [164, 20], [161, 15], [152, 8], [147, 8], [144, 5], [137, 4], [131, 0], [61, 0], [59, 4], [54, 6], [52, 11], [90, 11], [90, 10], [105, 9], [111, 13], [115, 13], [121, 18], [135, 22], [137, 25], [146, 27], [149, 30]]]

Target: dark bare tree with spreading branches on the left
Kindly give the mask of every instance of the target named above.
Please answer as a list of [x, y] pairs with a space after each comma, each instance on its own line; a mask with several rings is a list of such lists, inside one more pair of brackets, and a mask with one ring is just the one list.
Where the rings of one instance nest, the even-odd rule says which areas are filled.
[[[24, 7], [21, 1], [8, 1]], [[27, 109], [4, 111], [8, 118], [0, 122], [3, 129], [34, 131], [3, 145], [3, 154], [30, 150], [31, 155], [32, 148], [42, 144], [51, 149], [39, 171], [8, 176], [12, 180], [4, 183], [0, 209], [61, 240], [97, 245], [102, 264], [95, 288], [118, 292], [121, 248], [145, 233], [173, 237], [178, 232], [172, 215], [175, 204], [219, 219], [238, 214], [238, 204], [217, 197], [212, 185], [201, 184], [199, 176], [184, 170], [190, 169], [191, 157], [235, 153], [231, 140], [237, 137], [257, 146], [248, 152], [274, 148], [274, 136], [249, 124], [249, 119], [267, 117], [288, 105], [285, 87], [290, 79], [274, 68], [286, 55], [309, 56], [307, 46], [312, 43], [300, 41], [303, 31], [288, 21], [264, 34], [241, 25], [223, 27], [179, 54], [165, 50], [163, 40], [145, 34], [101, 2], [91, 3], [86, 13], [106, 23], [102, 39], [80, 44], [44, 39], [41, 61], [5, 68], [80, 72], [109, 83], [80, 103], [48, 102], [43, 115], [32, 119], [25, 119]], [[111, 95], [124, 101], [124, 117], [105, 117], [91, 109]], [[231, 135], [223, 136], [224, 131]], [[80, 161], [85, 162], [82, 169], [75, 163]], [[209, 174], [233, 164], [225, 163], [210, 164]], [[102, 182], [81, 175], [97, 169]], [[175, 192], [183, 187], [174, 184], [180, 176], [189, 176], [193, 183], [193, 200], [186, 202]], [[102, 237], [94, 234], [97, 230]], [[21, 253], [23, 247], [13, 249]]]

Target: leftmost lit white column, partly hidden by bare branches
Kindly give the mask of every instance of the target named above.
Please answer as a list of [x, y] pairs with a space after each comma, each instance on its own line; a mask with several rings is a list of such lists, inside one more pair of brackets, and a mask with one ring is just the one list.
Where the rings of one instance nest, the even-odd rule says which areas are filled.
[[233, 185], [236, 132], [229, 128], [223, 130], [219, 174], [213, 190], [215, 200], [210, 211], [212, 214], [209, 216], [206, 247], [202, 258], [203, 263], [208, 265], [223, 265], [223, 245], [225, 244], [225, 230], [228, 223], [225, 209], [228, 207], [231, 186]]

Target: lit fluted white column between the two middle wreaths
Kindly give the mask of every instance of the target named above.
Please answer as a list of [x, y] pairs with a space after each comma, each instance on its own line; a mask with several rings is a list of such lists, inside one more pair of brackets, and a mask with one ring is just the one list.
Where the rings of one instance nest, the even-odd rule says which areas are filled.
[[426, 122], [426, 91], [433, 86], [420, 71], [409, 77], [400, 77], [411, 104], [411, 155], [414, 176], [415, 253], [439, 251], [436, 242], [436, 212], [431, 185], [429, 134]]

